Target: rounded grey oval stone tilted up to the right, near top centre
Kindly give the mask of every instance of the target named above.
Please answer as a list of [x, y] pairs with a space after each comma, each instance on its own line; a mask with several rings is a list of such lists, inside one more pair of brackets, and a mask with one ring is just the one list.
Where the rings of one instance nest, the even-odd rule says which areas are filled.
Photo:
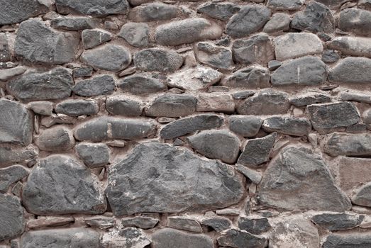
[[270, 19], [270, 9], [261, 5], [246, 5], [234, 14], [226, 25], [226, 33], [233, 38], [243, 38], [258, 32]]

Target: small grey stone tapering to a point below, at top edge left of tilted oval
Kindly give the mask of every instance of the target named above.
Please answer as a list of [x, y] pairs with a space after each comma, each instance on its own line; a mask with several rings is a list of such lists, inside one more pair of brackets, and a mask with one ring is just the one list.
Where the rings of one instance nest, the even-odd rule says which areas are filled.
[[240, 6], [230, 2], [205, 3], [197, 8], [197, 12], [221, 21], [228, 21], [239, 10]]

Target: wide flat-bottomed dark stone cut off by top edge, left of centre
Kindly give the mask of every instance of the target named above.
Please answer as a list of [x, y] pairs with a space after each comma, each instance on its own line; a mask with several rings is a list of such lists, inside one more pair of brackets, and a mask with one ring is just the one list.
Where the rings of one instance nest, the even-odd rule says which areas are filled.
[[87, 16], [125, 14], [129, 7], [126, 0], [55, 0], [55, 5], [59, 13], [82, 13]]

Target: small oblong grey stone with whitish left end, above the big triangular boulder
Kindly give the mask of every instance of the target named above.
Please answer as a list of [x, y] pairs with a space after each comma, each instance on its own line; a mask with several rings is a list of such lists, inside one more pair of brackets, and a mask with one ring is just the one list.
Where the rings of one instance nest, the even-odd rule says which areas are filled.
[[266, 118], [262, 129], [267, 133], [277, 132], [284, 135], [304, 136], [311, 131], [311, 123], [306, 118], [275, 116]]

